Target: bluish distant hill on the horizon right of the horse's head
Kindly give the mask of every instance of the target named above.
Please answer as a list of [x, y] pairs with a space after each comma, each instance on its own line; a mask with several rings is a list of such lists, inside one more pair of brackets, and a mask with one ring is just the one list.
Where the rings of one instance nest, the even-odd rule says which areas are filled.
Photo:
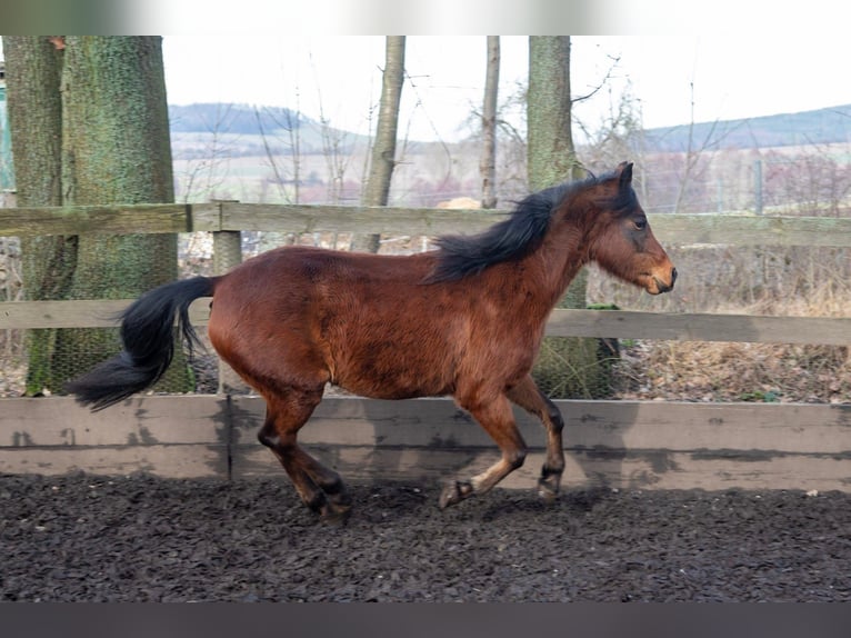
[[[695, 123], [692, 148], [750, 149], [851, 141], [851, 104], [814, 111]], [[681, 152], [689, 148], [689, 126], [644, 131], [648, 150]], [[708, 141], [708, 143], [704, 143]]]

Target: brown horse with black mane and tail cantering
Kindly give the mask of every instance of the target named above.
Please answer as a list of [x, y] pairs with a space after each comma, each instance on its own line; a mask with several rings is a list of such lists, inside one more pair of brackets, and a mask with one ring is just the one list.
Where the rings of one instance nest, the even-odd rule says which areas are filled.
[[564, 469], [563, 421], [529, 370], [550, 311], [590, 261], [651, 295], [677, 279], [632, 189], [631, 163], [531, 195], [489, 230], [443, 237], [430, 252], [287, 247], [221, 277], [168, 283], [123, 313], [124, 350], [67, 389], [101, 409], [149, 387], [171, 361], [176, 319], [191, 349], [197, 337], [187, 309], [212, 296], [213, 347], [267, 402], [258, 437], [323, 518], [343, 518], [350, 499], [340, 476], [308, 455], [297, 433], [327, 383], [380, 399], [451, 395], [475, 418], [502, 456], [449, 484], [441, 507], [488, 491], [522, 465], [517, 403], [547, 428], [538, 482], [552, 497]]

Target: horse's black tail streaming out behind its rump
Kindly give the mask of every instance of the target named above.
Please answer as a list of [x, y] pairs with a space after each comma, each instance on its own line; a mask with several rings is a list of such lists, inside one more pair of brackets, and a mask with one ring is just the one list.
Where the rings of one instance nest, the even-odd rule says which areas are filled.
[[66, 391], [92, 410], [102, 410], [149, 388], [174, 356], [174, 321], [190, 353], [200, 345], [189, 322], [189, 305], [211, 296], [214, 279], [194, 277], [166, 283], [142, 295], [121, 313], [123, 350], [64, 385]]

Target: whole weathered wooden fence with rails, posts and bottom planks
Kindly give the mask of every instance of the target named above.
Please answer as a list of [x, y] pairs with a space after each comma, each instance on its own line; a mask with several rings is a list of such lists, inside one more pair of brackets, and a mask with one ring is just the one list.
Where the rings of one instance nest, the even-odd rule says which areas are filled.
[[[0, 209], [0, 236], [213, 232], [219, 269], [240, 230], [475, 232], [499, 212], [263, 206], [236, 202]], [[650, 216], [662, 243], [851, 247], [851, 219]], [[222, 259], [223, 256], [230, 256]], [[112, 325], [120, 301], [0, 303], [0, 329]], [[204, 325], [207, 302], [191, 310]], [[780, 343], [851, 342], [851, 319], [555, 310], [550, 336]], [[567, 421], [565, 485], [851, 491], [851, 405], [557, 401]], [[0, 399], [0, 472], [149, 471], [241, 478], [282, 470], [254, 438], [262, 401], [249, 396], [138, 396], [91, 413], [71, 399]], [[531, 487], [543, 458], [539, 423], [518, 413], [531, 448], [505, 487]], [[448, 399], [328, 398], [301, 440], [350, 479], [468, 475], [497, 448]]]

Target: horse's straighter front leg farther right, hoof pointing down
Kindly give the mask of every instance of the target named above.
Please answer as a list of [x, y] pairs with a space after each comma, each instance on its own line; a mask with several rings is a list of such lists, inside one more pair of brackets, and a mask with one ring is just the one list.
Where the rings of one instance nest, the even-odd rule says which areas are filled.
[[561, 440], [564, 419], [555, 403], [541, 392], [529, 375], [509, 390], [508, 398], [541, 419], [547, 428], [547, 460], [541, 468], [541, 478], [538, 479], [538, 494], [553, 499], [559, 494], [561, 475], [564, 473], [564, 447]]

